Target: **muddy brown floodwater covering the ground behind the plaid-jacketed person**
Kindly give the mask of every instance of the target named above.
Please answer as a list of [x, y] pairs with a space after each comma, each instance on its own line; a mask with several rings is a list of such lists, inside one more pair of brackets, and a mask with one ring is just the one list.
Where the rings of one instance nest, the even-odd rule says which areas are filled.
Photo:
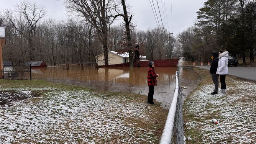
[[[187, 95], [197, 85], [198, 75], [193, 67], [180, 67], [180, 85], [187, 87], [183, 93]], [[46, 79], [52, 82], [82, 85], [92, 89], [107, 92], [127, 92], [148, 95], [147, 83], [148, 67], [107, 67], [94, 69], [90, 66], [66, 65], [32, 69], [32, 79]], [[155, 67], [159, 74], [157, 86], [154, 88], [154, 99], [162, 103], [163, 107], [171, 105], [176, 86], [177, 67]], [[146, 102], [146, 101], [145, 101]]]

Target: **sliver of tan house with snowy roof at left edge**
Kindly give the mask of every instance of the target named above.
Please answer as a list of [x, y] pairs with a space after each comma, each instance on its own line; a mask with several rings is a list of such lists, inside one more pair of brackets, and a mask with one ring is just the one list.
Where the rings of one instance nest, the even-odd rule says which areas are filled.
[[0, 79], [3, 79], [3, 51], [2, 46], [5, 46], [5, 28], [0, 27]]

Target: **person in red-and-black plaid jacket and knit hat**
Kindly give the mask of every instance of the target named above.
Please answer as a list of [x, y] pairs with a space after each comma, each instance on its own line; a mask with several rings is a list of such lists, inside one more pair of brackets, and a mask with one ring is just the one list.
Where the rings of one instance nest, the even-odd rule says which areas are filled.
[[159, 74], [156, 74], [154, 67], [154, 62], [150, 61], [148, 63], [149, 69], [148, 69], [148, 103], [153, 105], [153, 98], [154, 98], [154, 86], [156, 85], [156, 78], [159, 76]]

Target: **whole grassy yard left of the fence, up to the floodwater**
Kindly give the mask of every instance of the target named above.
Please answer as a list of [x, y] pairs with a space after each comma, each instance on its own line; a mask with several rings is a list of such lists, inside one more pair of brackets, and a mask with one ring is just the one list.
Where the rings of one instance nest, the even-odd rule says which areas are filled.
[[146, 99], [44, 80], [0, 80], [0, 144], [156, 144], [168, 110]]

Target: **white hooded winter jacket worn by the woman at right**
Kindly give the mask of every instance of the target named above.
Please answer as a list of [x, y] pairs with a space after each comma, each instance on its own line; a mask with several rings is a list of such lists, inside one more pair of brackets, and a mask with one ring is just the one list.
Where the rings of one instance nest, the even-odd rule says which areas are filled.
[[219, 56], [218, 68], [216, 74], [228, 74], [228, 51], [222, 52]]

